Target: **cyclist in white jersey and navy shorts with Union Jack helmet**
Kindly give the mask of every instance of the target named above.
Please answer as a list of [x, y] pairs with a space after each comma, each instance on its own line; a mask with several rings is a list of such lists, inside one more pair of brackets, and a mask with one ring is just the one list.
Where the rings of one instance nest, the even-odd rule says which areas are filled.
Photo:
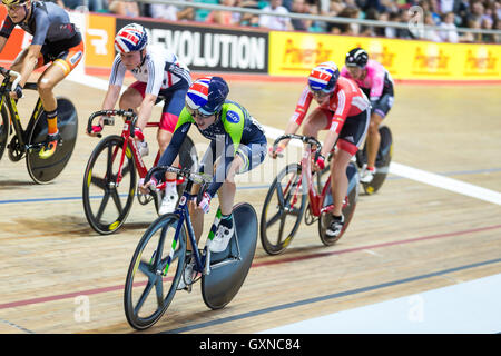
[[[118, 55], [115, 57], [108, 91], [102, 102], [102, 110], [115, 107], [125, 73], [129, 70], [136, 81], [121, 95], [119, 107], [122, 110], [132, 108], [138, 115], [135, 136], [141, 156], [148, 155], [143, 129], [151, 116], [155, 103], [161, 100], [165, 102], [157, 134], [163, 154], [170, 142], [179, 115], [185, 107], [186, 92], [191, 85], [188, 67], [181, 63], [174, 52], [147, 43], [148, 34], [140, 24], [130, 23], [118, 31], [115, 37], [115, 49]], [[102, 126], [95, 126], [90, 135], [101, 130]], [[178, 165], [178, 160], [176, 158], [174, 165]], [[158, 212], [163, 215], [174, 211], [177, 199], [176, 175], [168, 174]]]

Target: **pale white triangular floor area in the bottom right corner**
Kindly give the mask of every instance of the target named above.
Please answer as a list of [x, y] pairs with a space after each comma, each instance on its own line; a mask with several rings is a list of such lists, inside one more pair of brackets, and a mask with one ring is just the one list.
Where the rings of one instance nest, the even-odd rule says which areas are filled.
[[500, 333], [500, 284], [501, 275], [493, 275], [279, 326], [261, 334]]

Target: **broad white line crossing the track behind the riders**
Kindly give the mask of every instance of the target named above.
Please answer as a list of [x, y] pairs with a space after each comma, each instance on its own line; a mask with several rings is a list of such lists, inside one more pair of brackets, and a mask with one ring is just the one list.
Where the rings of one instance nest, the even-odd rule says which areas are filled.
[[[69, 80], [79, 85], [88, 86], [95, 89], [107, 90], [108, 81], [92, 76], [76, 73], [70, 75]], [[98, 108], [96, 109], [98, 110]], [[284, 131], [274, 127], [264, 126], [266, 136], [271, 139], [276, 139], [283, 135]], [[468, 197], [477, 198], [495, 205], [501, 205], [501, 194], [494, 190], [485, 189], [456, 179], [448, 178], [441, 175], [428, 172], [418, 168], [404, 166], [392, 161], [390, 165], [390, 172], [396, 176], [409, 178], [419, 182], [423, 182], [438, 188], [446, 189], [453, 192], [462, 194]]]

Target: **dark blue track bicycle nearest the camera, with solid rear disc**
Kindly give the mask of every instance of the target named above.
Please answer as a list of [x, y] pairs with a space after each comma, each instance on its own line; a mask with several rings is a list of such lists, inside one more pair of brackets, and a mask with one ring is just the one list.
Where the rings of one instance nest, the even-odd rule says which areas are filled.
[[[124, 308], [127, 322], [136, 329], [153, 326], [165, 314], [187, 265], [187, 240], [191, 244], [196, 276], [202, 279], [202, 296], [210, 309], [225, 307], [238, 293], [250, 268], [257, 239], [257, 216], [249, 204], [237, 204], [233, 209], [235, 234], [222, 253], [210, 253], [209, 244], [220, 221], [217, 210], [204, 248], [199, 249], [189, 216], [188, 201], [198, 204], [212, 181], [210, 175], [193, 172], [175, 167], [156, 167], [155, 172], [171, 171], [187, 180], [179, 205], [174, 214], [157, 218], [143, 235], [129, 265], [124, 290]], [[194, 184], [202, 185], [191, 195]], [[186, 281], [185, 281], [186, 283]], [[191, 284], [187, 287], [190, 290]]]

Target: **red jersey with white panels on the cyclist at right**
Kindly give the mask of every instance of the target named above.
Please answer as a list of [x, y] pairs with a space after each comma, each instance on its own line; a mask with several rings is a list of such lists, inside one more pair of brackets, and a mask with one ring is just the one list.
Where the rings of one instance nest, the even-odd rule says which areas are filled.
[[[297, 125], [301, 125], [308, 111], [313, 99], [313, 93], [308, 86], [306, 86], [296, 105], [296, 110], [291, 118]], [[370, 106], [367, 97], [358, 88], [358, 86], [351, 79], [340, 77], [336, 88], [331, 96], [331, 99], [321, 106], [321, 108], [328, 109], [333, 112], [332, 121], [344, 123], [346, 118], [356, 116], [366, 110]], [[338, 125], [337, 123], [337, 125]], [[337, 130], [337, 129], [336, 129]], [[341, 130], [341, 127], [338, 128]]]

